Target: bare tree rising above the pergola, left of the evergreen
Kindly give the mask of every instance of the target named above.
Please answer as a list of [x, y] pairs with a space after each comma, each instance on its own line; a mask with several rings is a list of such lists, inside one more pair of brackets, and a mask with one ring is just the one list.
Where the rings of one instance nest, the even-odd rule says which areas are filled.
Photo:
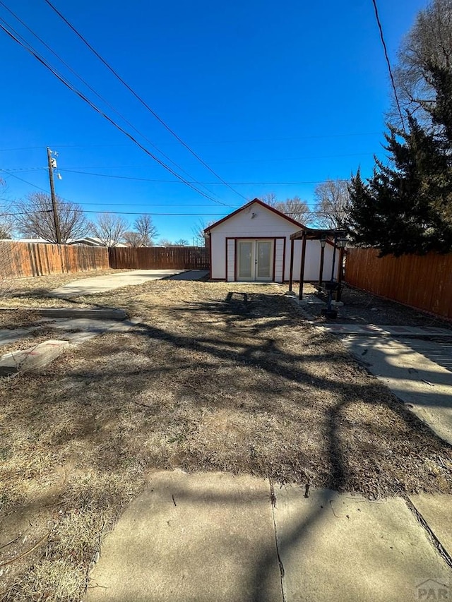
[[350, 212], [350, 193], [347, 182], [326, 180], [314, 191], [315, 223], [320, 228], [344, 228]]

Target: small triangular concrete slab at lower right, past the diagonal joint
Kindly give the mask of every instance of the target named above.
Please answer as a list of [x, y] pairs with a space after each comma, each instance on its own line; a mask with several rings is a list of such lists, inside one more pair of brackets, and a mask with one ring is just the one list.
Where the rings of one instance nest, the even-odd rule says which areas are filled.
[[412, 505], [452, 557], [452, 498], [450, 495], [410, 495]]

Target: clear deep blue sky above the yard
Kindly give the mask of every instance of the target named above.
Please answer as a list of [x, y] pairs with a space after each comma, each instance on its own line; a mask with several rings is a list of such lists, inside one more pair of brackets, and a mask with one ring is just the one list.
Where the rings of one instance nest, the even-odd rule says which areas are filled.
[[[115, 80], [44, 0], [4, 0], [129, 124], [4, 6], [0, 23], [174, 171], [206, 183], [194, 186], [217, 202], [175, 181], [0, 31], [0, 169], [6, 170], [0, 176], [9, 198], [36, 191], [29, 183], [48, 189], [49, 146], [59, 152], [57, 193], [90, 217], [102, 210], [147, 212], [160, 237], [191, 241], [200, 219], [220, 219], [265, 193], [281, 200], [299, 195], [312, 205], [316, 182], [348, 178], [359, 166], [369, 175], [373, 154], [382, 154], [390, 86], [371, 0], [52, 2], [234, 191]], [[426, 4], [379, 0], [392, 61]], [[133, 222], [136, 215], [125, 217]]]

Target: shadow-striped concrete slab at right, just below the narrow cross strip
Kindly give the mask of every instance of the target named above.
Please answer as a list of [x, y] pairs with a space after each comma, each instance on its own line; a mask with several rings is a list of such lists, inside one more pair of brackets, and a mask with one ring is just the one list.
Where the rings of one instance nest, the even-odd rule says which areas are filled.
[[410, 411], [452, 445], [452, 374], [410, 347], [410, 339], [349, 335], [345, 347]]

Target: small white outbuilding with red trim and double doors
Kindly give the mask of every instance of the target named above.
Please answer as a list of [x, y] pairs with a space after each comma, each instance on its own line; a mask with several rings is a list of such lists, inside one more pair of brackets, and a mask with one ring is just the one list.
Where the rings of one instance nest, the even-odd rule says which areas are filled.
[[[255, 198], [215, 222], [210, 236], [210, 278], [227, 282], [285, 282], [290, 277], [290, 234], [304, 225]], [[304, 280], [319, 279], [321, 244], [307, 241]], [[294, 245], [294, 279], [299, 279], [302, 243]], [[325, 247], [323, 280], [331, 278], [333, 244]], [[337, 265], [337, 262], [336, 262]]]

